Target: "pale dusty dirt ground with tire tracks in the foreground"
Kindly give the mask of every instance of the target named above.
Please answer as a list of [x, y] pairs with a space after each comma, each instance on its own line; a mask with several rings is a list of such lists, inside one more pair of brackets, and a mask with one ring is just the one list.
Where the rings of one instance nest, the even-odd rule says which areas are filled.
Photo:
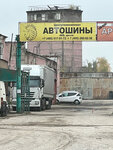
[[113, 150], [113, 100], [0, 118], [0, 150]]

